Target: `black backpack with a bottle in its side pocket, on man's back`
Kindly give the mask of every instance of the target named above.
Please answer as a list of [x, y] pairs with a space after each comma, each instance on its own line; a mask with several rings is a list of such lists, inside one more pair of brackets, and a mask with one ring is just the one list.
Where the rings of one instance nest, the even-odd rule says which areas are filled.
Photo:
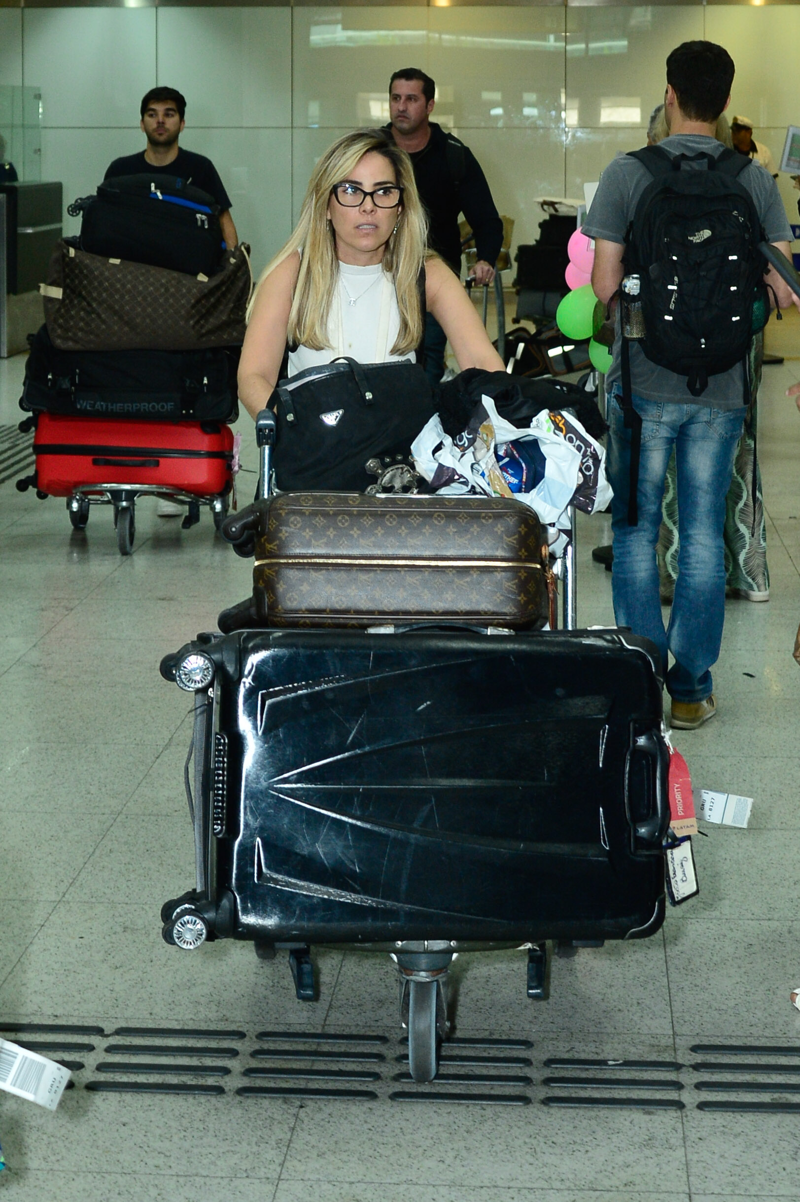
[[[685, 375], [693, 397], [703, 395], [709, 376], [741, 363], [747, 403], [753, 309], [769, 314], [758, 251], [765, 236], [753, 197], [737, 178], [751, 160], [728, 149], [716, 157], [672, 156], [658, 145], [630, 157], [653, 177], [628, 227], [623, 256], [626, 274], [640, 279], [645, 335], [639, 345], [651, 362]], [[698, 160], [706, 169], [686, 166]], [[630, 299], [622, 293], [623, 326]], [[628, 522], [636, 525], [641, 418], [633, 409], [624, 334], [621, 368], [622, 409], [632, 430]]]

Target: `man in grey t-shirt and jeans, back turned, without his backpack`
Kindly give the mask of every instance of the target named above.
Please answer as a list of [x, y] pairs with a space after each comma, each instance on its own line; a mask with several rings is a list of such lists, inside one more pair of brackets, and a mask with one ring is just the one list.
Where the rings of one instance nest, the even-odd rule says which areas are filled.
[[[718, 155], [717, 118], [730, 101], [734, 64], [713, 42], [683, 42], [666, 60], [664, 112], [668, 153]], [[701, 160], [697, 169], [705, 169]], [[694, 169], [692, 165], [689, 169]], [[636, 159], [615, 159], [600, 177], [583, 233], [595, 240], [592, 286], [604, 303], [624, 275], [626, 233], [652, 175]], [[789, 254], [792, 231], [772, 177], [758, 163], [739, 175], [753, 196], [770, 242]], [[771, 270], [768, 282], [781, 307], [792, 303], [787, 286]], [[671, 697], [671, 724], [695, 730], [716, 713], [711, 666], [719, 655], [725, 603], [722, 530], [725, 495], [745, 416], [741, 365], [710, 376], [693, 397], [687, 377], [646, 358], [629, 341], [633, 407], [641, 417], [641, 458], [636, 487], [638, 524], [628, 524], [632, 430], [626, 427], [621, 395], [621, 345], [617, 319], [614, 359], [606, 376], [610, 426], [608, 471], [614, 488], [614, 612], [621, 626], [652, 639], [662, 653]], [[662, 619], [656, 543], [662, 518], [666, 466], [675, 447], [680, 514], [678, 578], [669, 626]], [[668, 671], [669, 653], [675, 662]]]

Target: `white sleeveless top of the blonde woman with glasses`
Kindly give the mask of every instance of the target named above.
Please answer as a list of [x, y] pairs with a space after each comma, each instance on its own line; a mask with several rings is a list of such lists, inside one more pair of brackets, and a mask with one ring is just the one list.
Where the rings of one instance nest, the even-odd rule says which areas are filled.
[[[355, 302], [355, 303], [352, 303]], [[399, 333], [399, 309], [391, 275], [380, 263], [351, 267], [339, 263], [339, 286], [333, 297], [327, 323], [330, 347], [312, 351], [298, 346], [289, 352], [289, 375], [306, 368], [331, 363], [346, 355], [357, 363], [390, 363], [415, 359], [413, 351], [392, 355]]]

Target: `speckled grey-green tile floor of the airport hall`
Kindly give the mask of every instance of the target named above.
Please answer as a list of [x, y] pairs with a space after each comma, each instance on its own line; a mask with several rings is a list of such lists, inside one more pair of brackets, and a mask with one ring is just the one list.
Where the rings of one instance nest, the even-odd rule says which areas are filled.
[[[223, 1096], [90, 1093], [83, 1083], [100, 1077], [109, 1042], [97, 1037], [57, 1113], [0, 1094], [8, 1162], [0, 1192], [14, 1202], [796, 1195], [798, 1113], [698, 1111], [710, 1095], [694, 1089], [692, 1047], [800, 1053], [800, 1013], [788, 1000], [800, 982], [800, 672], [790, 656], [800, 415], [783, 397], [798, 376], [800, 363], [768, 368], [762, 394], [772, 596], [729, 602], [719, 716], [677, 739], [695, 785], [754, 797], [749, 829], [706, 827], [709, 838], [695, 840], [699, 898], [670, 911], [651, 940], [556, 958], [547, 1002], [526, 998], [520, 953], [460, 959], [458, 1035], [532, 1045], [522, 1054], [525, 1107], [389, 1100], [399, 1030], [385, 957], [320, 953], [320, 1000], [301, 1006], [284, 959], [263, 963], [225, 941], [183, 956], [161, 941], [160, 904], [191, 885], [192, 849], [182, 784], [188, 704], [160, 680], [158, 662], [244, 596], [249, 565], [214, 537], [207, 514], [182, 532], [141, 504], [135, 553], [120, 559], [107, 511], [72, 534], [63, 502], [0, 487], [0, 1019], [99, 1025], [107, 1035], [126, 1025], [247, 1034], [230, 1077], [209, 1078], [223, 1081]], [[0, 362], [0, 424], [18, 418], [20, 379], [22, 359]], [[251, 470], [251, 428], [242, 429]], [[241, 478], [247, 493], [254, 477]], [[606, 518], [581, 522], [585, 624], [612, 620], [610, 577], [589, 555], [608, 536]], [[265, 1028], [383, 1033], [377, 1100], [237, 1096]], [[541, 1105], [553, 1093], [546, 1061], [558, 1058], [675, 1061], [683, 1067], [670, 1079], [683, 1088], [671, 1085], [671, 1096], [686, 1108]], [[800, 1066], [800, 1055], [782, 1063]]]

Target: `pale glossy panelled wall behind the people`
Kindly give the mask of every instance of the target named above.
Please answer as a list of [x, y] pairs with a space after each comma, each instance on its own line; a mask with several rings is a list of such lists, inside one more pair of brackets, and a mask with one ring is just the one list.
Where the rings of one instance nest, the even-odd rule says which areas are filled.
[[[143, 147], [143, 93], [179, 88], [182, 145], [215, 162], [260, 268], [320, 153], [387, 119], [392, 70], [434, 77], [434, 119], [478, 155], [517, 244], [535, 238], [537, 197], [580, 197], [615, 154], [644, 144], [666, 54], [700, 37], [731, 53], [729, 112], [748, 115], [777, 160], [800, 124], [796, 5], [0, 7], [0, 83], [41, 87], [41, 178], [64, 182], [65, 207]], [[788, 175], [780, 186], [796, 221]], [[65, 213], [65, 231], [77, 225]]]

